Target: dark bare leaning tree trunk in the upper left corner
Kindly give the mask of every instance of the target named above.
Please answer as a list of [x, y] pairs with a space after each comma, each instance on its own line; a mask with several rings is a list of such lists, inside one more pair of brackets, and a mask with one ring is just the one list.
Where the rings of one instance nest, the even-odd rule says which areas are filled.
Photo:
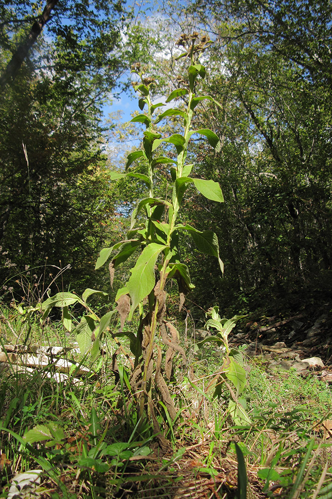
[[4, 72], [0, 77], [0, 90], [3, 90], [3, 88], [10, 81], [13, 81], [15, 79], [17, 71], [21, 67], [22, 62], [26, 58], [30, 48], [36, 41], [38, 35], [41, 33], [41, 30], [43, 29], [44, 25], [50, 18], [51, 11], [57, 2], [58, 0], [49, 0], [47, 2], [43, 10], [43, 13], [39, 17], [39, 19], [33, 23], [30, 32], [26, 36], [25, 40], [16, 48], [13, 56], [11, 57], [10, 61], [7, 64], [7, 67], [5, 68]]

